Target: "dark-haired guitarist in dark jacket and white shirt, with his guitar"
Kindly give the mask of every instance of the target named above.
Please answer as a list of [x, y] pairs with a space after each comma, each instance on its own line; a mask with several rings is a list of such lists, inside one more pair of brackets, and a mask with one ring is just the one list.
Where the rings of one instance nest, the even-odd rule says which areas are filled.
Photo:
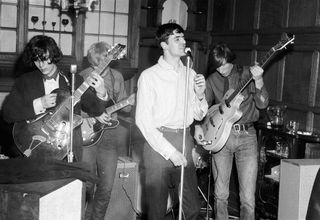
[[[16, 79], [3, 103], [3, 118], [14, 123], [15, 144], [26, 157], [63, 159], [68, 153], [70, 102], [62, 91], [70, 91], [71, 80], [57, 66], [62, 57], [53, 38], [34, 36], [23, 53], [23, 61], [34, 70]], [[94, 90], [85, 90], [88, 87]], [[82, 107], [93, 115], [101, 115], [107, 99], [102, 77], [94, 73], [83, 82], [76, 76], [75, 88], [83, 93], [77, 96], [75, 114], [80, 114]], [[74, 124], [81, 124], [81, 118], [78, 119]], [[73, 134], [74, 154], [79, 161], [82, 156], [79, 126]]]

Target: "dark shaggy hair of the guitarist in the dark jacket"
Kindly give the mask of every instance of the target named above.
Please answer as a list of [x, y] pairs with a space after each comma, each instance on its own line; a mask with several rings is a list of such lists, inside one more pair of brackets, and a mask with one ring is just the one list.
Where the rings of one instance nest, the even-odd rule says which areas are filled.
[[[49, 52], [49, 57], [45, 55]], [[23, 62], [27, 66], [34, 66], [34, 61], [49, 59], [50, 63], [58, 63], [63, 54], [52, 37], [36, 35], [28, 42], [23, 52]]]

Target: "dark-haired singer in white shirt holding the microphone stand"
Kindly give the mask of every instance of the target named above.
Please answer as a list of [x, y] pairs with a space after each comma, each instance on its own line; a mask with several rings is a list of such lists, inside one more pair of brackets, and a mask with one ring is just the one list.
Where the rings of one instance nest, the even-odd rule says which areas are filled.
[[[184, 101], [186, 66], [184, 30], [175, 23], [161, 25], [156, 33], [163, 55], [138, 80], [136, 123], [146, 139], [143, 161], [149, 220], [163, 220], [169, 188], [179, 187], [181, 166], [185, 166], [182, 213], [197, 219], [200, 211], [197, 177], [192, 160], [193, 138], [189, 126], [201, 120], [208, 110], [205, 79], [190, 70], [186, 126]], [[185, 155], [182, 154], [183, 128], [186, 127]]]

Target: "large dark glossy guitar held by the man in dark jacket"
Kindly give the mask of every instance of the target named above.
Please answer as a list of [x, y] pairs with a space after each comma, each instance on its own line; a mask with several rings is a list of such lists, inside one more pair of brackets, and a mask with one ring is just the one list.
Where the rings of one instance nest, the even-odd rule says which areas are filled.
[[[99, 65], [97, 73], [101, 74], [112, 60], [124, 55], [124, 45], [117, 44], [109, 51], [105, 60]], [[74, 105], [80, 101], [89, 88], [84, 81], [74, 92]], [[30, 158], [52, 158], [62, 160], [68, 153], [70, 145], [69, 109], [71, 96], [69, 92], [56, 89], [57, 105], [48, 109], [34, 120], [16, 122], [13, 126], [13, 139], [18, 149]], [[74, 107], [74, 106], [72, 106]], [[82, 117], [74, 115], [73, 128], [80, 126]]]

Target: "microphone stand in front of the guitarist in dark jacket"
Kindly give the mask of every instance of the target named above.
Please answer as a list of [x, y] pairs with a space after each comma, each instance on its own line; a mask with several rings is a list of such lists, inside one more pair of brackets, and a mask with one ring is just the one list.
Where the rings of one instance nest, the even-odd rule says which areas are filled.
[[71, 96], [70, 96], [70, 111], [69, 111], [69, 126], [70, 126], [70, 132], [69, 132], [69, 151], [68, 151], [68, 163], [73, 162], [73, 113], [74, 113], [74, 78], [75, 74], [77, 72], [77, 66], [76, 65], [71, 65], [70, 67], [70, 72], [71, 72]]

